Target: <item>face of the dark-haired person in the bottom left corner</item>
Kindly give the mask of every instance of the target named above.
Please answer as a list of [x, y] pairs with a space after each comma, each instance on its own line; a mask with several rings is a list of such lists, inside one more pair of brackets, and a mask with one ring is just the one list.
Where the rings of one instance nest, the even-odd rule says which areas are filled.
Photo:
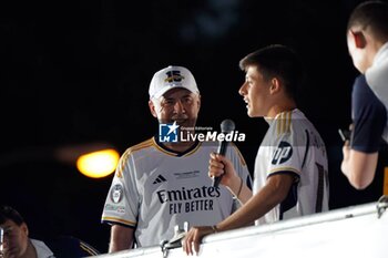
[[29, 241], [27, 225], [18, 226], [8, 219], [0, 226], [4, 229], [4, 258], [21, 257], [25, 252]]

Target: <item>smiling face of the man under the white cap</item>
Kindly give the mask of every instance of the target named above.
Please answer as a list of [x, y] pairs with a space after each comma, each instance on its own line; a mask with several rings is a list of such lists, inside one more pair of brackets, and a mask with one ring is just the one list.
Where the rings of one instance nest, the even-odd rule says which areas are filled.
[[201, 97], [186, 89], [173, 89], [163, 96], [150, 101], [151, 113], [160, 123], [176, 123], [193, 127], [201, 107]]

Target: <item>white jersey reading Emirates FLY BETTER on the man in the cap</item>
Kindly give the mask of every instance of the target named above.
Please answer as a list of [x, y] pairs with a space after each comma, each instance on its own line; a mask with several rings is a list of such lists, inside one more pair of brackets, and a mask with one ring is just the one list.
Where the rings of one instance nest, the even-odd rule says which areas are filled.
[[[135, 228], [139, 247], [159, 245], [174, 227], [215, 225], [232, 214], [234, 199], [208, 177], [214, 143], [197, 143], [186, 153], [171, 152], [154, 138], [129, 148], [121, 157], [102, 221]], [[226, 155], [242, 178], [251, 182], [247, 166], [234, 144]]]

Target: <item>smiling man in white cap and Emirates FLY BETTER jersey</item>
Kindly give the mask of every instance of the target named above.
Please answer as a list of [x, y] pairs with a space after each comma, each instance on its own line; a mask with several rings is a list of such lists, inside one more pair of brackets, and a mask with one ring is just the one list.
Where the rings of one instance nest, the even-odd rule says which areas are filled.
[[[208, 177], [208, 157], [217, 144], [176, 141], [174, 134], [176, 130], [195, 133], [201, 95], [193, 74], [183, 66], [162, 69], [154, 74], [149, 93], [152, 115], [160, 128], [169, 130], [163, 137], [127, 148], [121, 157], [102, 214], [102, 221], [112, 225], [110, 252], [132, 248], [134, 242], [137, 247], [160, 245], [174, 236], [175, 226], [183, 228], [185, 221], [214, 225], [234, 211], [233, 195], [224, 186], [213, 187]], [[251, 185], [235, 145], [226, 156]]]

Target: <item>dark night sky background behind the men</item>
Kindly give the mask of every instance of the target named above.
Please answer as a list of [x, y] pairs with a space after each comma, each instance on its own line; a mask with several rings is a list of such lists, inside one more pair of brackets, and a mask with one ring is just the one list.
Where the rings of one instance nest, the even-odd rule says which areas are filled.
[[[299, 107], [329, 153], [331, 208], [375, 202], [382, 173], [357, 192], [339, 171], [357, 71], [345, 41], [361, 1], [27, 1], [0, 7], [1, 202], [32, 236], [67, 234], [108, 248], [100, 216], [112, 177], [93, 180], [51, 158], [61, 146], [105, 142], [121, 153], [156, 133], [147, 87], [157, 70], [188, 68], [202, 92], [198, 125], [235, 121], [251, 171], [266, 124], [246, 115], [238, 61], [267, 44], [293, 47], [307, 80]], [[4, 6], [8, 4], [8, 6]], [[381, 155], [381, 159], [384, 155]], [[381, 169], [381, 167], [379, 167]]]

